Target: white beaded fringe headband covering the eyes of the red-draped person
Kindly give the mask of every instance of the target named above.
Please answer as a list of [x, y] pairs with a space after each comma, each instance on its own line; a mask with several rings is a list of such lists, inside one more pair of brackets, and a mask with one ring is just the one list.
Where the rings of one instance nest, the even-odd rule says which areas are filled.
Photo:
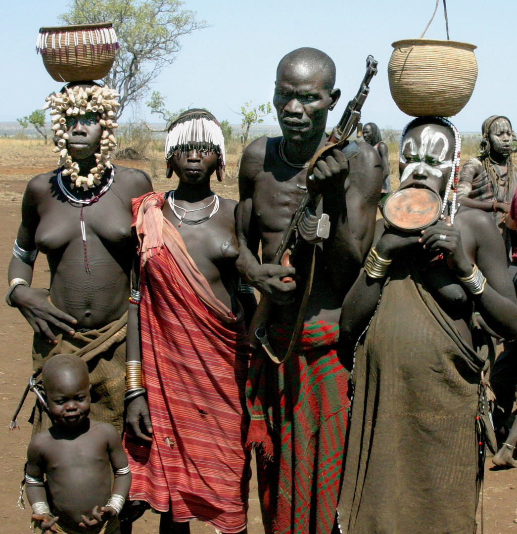
[[217, 154], [216, 174], [221, 182], [226, 166], [223, 131], [214, 115], [204, 109], [190, 109], [169, 126], [165, 159], [170, 161], [175, 152], [186, 154], [191, 150]]

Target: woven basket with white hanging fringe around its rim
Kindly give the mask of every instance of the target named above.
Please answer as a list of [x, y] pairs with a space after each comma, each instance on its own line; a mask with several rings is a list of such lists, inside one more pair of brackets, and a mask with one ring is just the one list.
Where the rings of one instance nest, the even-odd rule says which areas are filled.
[[104, 78], [117, 48], [111, 22], [40, 28], [36, 45], [43, 65], [57, 82]]

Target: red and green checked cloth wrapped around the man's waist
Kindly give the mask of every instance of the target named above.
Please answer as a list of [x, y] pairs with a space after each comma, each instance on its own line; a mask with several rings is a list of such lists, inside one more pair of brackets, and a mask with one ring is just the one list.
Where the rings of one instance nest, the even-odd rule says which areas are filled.
[[[292, 332], [291, 325], [268, 329], [279, 354]], [[247, 444], [259, 457], [267, 534], [329, 534], [333, 528], [350, 407], [350, 373], [336, 354], [338, 335], [338, 324], [305, 324], [283, 364], [263, 351], [252, 358]]]

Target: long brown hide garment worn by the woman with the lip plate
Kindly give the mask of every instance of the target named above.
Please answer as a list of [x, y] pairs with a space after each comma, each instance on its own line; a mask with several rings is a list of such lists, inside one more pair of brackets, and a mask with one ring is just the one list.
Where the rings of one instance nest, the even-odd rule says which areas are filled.
[[390, 272], [356, 352], [339, 523], [354, 534], [473, 533], [487, 358], [461, 339], [414, 265], [394, 261]]

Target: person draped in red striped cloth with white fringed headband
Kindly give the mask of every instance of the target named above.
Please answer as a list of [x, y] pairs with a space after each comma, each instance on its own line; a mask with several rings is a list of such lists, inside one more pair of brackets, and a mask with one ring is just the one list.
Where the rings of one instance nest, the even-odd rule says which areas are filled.
[[246, 532], [249, 354], [240, 302], [255, 299], [253, 288], [238, 295], [237, 202], [210, 189], [210, 176], [224, 170], [215, 117], [180, 115], [166, 159], [177, 189], [133, 202], [140, 262], [128, 326], [130, 496], [161, 513], [163, 534], [189, 532], [192, 519]]

